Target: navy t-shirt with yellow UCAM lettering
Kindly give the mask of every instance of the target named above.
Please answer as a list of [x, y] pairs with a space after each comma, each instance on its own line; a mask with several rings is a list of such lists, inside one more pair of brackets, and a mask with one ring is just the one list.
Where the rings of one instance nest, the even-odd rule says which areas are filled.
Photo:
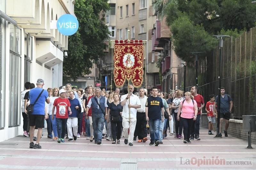
[[147, 99], [146, 107], [148, 107], [148, 118], [149, 119], [160, 119], [161, 120], [161, 108], [164, 107], [163, 100], [160, 97], [150, 96]]

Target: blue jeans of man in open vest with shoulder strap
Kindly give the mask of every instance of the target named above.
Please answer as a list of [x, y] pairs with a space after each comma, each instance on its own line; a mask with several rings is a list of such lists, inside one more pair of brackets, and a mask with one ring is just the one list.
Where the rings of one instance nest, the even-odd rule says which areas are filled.
[[92, 127], [95, 142], [101, 141], [102, 130], [104, 128], [104, 115], [103, 114], [92, 114]]

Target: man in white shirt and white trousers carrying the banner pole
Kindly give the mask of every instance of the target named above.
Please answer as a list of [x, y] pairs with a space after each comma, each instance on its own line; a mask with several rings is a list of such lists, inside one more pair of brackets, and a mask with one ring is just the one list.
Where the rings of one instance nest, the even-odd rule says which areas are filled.
[[[122, 118], [123, 118], [123, 130], [124, 130], [124, 144], [133, 146], [133, 135], [137, 122], [137, 108], [140, 108], [140, 99], [132, 92], [134, 90], [133, 85], [128, 85], [128, 93], [121, 97], [121, 106], [123, 106]], [[130, 100], [130, 102], [129, 102]], [[130, 132], [128, 134], [128, 129]]]

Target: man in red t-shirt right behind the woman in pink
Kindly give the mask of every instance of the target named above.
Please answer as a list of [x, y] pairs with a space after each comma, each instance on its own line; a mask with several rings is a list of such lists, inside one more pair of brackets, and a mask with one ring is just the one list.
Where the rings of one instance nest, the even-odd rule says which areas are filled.
[[197, 109], [198, 109], [196, 121], [193, 122], [193, 127], [195, 127], [195, 128], [191, 129], [190, 140], [194, 140], [194, 138], [196, 138], [196, 140], [201, 140], [201, 138], [199, 137], [199, 126], [200, 126], [201, 110], [204, 107], [204, 98], [203, 98], [202, 95], [197, 94], [197, 87], [196, 86], [192, 86], [190, 88], [190, 92], [194, 96], [194, 100], [196, 100]]

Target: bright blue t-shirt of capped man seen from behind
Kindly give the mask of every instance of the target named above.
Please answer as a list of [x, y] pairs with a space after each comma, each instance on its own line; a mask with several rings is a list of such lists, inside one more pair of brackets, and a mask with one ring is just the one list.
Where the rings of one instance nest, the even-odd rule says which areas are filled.
[[[29, 92], [29, 100], [30, 104], [34, 104], [37, 97], [41, 93], [42, 88], [41, 87], [36, 87], [30, 90]], [[36, 101], [36, 104], [33, 107], [33, 112], [31, 115], [45, 115], [44, 112], [44, 107], [45, 107], [45, 100], [49, 98], [47, 90], [44, 90], [44, 92], [41, 94], [41, 96], [38, 98]]]

